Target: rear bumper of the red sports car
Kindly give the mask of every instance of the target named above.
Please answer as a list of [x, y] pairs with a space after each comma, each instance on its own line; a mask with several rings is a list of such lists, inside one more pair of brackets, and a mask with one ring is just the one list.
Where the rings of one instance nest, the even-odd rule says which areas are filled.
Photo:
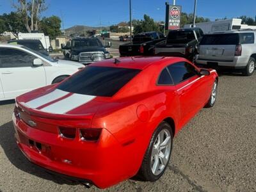
[[122, 168], [122, 145], [102, 129], [102, 140], [85, 142], [60, 138], [52, 132], [29, 127], [13, 115], [15, 139], [29, 161], [52, 172], [108, 188], [131, 177]]

